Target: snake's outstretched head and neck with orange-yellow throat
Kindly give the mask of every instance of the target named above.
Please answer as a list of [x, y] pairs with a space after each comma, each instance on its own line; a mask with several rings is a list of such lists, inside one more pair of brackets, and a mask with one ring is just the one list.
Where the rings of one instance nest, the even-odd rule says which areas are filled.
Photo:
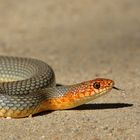
[[57, 88], [56, 93], [60, 94], [61, 92], [61, 96], [49, 99], [44, 106], [49, 110], [74, 108], [104, 95], [113, 86], [114, 81], [103, 78], [85, 81], [72, 86], [60, 86]]

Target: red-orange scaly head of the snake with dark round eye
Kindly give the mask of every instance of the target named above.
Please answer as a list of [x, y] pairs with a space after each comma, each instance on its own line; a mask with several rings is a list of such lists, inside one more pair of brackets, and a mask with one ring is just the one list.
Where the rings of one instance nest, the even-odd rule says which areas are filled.
[[[75, 85], [70, 92], [79, 95], [80, 97], [89, 97], [89, 99], [97, 98], [98, 96], [107, 93], [114, 86], [114, 81], [110, 79], [97, 78], [94, 80], [86, 81], [81, 84]], [[92, 98], [93, 97], [93, 98]]]

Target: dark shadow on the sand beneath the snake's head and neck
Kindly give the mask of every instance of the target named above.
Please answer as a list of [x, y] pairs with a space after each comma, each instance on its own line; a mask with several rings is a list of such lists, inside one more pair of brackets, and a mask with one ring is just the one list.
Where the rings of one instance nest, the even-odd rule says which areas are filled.
[[[117, 108], [124, 108], [124, 107], [131, 107], [133, 104], [128, 103], [95, 103], [95, 104], [83, 104], [81, 106], [67, 109], [67, 110], [103, 110], [103, 109], [117, 109]], [[53, 111], [44, 111], [34, 115], [36, 116], [43, 116], [51, 113]]]

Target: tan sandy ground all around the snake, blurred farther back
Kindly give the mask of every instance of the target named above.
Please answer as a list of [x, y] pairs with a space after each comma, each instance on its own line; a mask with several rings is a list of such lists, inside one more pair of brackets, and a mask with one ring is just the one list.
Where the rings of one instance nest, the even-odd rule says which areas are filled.
[[0, 54], [49, 63], [57, 82], [104, 77], [112, 90], [77, 109], [0, 119], [0, 140], [140, 139], [139, 0], [0, 0]]

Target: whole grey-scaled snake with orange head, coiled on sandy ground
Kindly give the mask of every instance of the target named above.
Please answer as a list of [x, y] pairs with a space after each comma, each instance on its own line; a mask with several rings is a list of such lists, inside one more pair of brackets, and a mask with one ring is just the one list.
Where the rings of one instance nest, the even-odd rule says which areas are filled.
[[75, 108], [108, 93], [106, 78], [56, 85], [50, 65], [35, 58], [0, 56], [0, 117], [24, 118], [48, 110]]

